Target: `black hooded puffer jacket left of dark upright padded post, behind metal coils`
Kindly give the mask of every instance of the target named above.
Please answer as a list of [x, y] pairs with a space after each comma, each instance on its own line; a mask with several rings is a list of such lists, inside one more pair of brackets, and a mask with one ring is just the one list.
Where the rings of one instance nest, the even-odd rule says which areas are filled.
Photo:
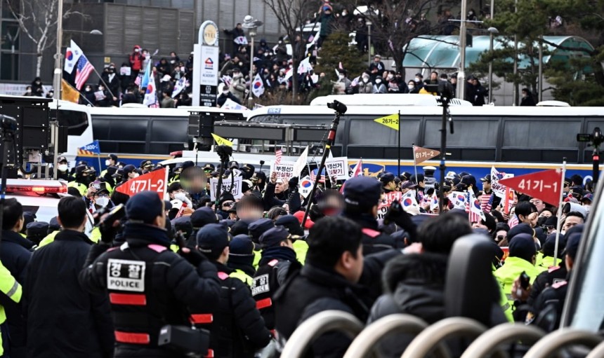
[[[395, 313], [414, 315], [428, 324], [444, 318], [446, 275], [445, 255], [426, 252], [396, 257], [384, 269], [386, 294], [374, 303], [368, 323]], [[383, 357], [400, 357], [412, 339], [405, 335], [385, 338], [379, 349]]]

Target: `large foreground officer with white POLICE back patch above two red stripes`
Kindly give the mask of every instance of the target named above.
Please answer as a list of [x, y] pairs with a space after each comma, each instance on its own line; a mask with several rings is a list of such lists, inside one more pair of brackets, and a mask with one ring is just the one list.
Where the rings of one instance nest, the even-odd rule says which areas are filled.
[[158, 346], [159, 331], [166, 324], [188, 324], [188, 308], [218, 306], [216, 267], [195, 250], [182, 249], [178, 256], [169, 249], [164, 201], [156, 192], [133, 195], [126, 216], [124, 244], [107, 251], [112, 226], [103, 225], [103, 243], [91, 249], [80, 282], [88, 291], [109, 294], [114, 357], [184, 357], [186, 352]]

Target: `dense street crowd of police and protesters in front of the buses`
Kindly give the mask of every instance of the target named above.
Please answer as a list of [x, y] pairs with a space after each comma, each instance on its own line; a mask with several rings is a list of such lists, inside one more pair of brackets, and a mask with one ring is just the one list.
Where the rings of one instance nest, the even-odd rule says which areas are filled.
[[[445, 317], [454, 242], [470, 233], [493, 247], [492, 267], [484, 269], [501, 291], [499, 299], [483, 297], [492, 301], [490, 325], [523, 322], [551, 331], [593, 198], [589, 181], [565, 179], [570, 209], [561, 216], [556, 253], [561, 208], [518, 192], [506, 204], [494, 195], [489, 175], [477, 181], [449, 172], [442, 187], [434, 167], [343, 183], [319, 177], [320, 190], [305, 198], [297, 177], [267, 176], [235, 160], [222, 169], [184, 161], [169, 170], [169, 200], [162, 200], [157, 192], [130, 197], [115, 190], [160, 165], [124, 165], [112, 154], [105, 167], [99, 174], [87, 163], [70, 170], [60, 158], [58, 176], [70, 181], [70, 195], [49, 223], [6, 200], [0, 355], [185, 357], [202, 350], [254, 357], [282, 349], [296, 327], [324, 310], [362, 322], [407, 313], [430, 324]], [[224, 191], [212, 200], [209, 179], [221, 175], [242, 177], [240, 198]], [[418, 205], [391, 208], [388, 222], [378, 220], [386, 196], [399, 191]], [[447, 198], [442, 212], [431, 202], [440, 191]], [[490, 198], [490, 206], [472, 219], [452, 193]], [[411, 338], [384, 340], [380, 349], [400, 357]], [[350, 338], [327, 333], [311, 350], [341, 357], [349, 344]]]

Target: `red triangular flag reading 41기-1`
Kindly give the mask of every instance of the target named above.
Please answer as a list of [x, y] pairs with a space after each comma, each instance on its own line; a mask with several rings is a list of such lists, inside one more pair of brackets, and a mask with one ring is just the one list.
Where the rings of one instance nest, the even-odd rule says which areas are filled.
[[560, 182], [562, 181], [562, 170], [551, 169], [543, 172], [520, 175], [499, 180], [499, 184], [525, 193], [533, 198], [539, 198], [551, 205], [560, 205]]

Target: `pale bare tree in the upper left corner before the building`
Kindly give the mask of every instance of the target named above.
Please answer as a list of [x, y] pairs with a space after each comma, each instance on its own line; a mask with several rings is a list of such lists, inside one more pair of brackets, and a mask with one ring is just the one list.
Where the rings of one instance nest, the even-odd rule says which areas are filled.
[[[36, 76], [40, 69], [44, 51], [51, 48], [56, 40], [58, 5], [63, 0], [3, 0], [11, 14], [17, 19], [19, 28], [36, 45]], [[82, 15], [77, 11], [63, 11], [63, 18]]]

